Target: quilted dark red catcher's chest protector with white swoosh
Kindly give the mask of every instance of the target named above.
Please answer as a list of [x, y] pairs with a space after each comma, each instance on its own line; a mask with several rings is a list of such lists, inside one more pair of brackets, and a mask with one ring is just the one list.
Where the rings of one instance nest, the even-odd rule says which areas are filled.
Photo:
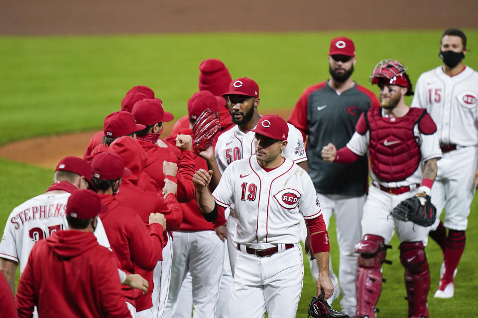
[[413, 127], [423, 111], [421, 108], [410, 108], [400, 118], [382, 117], [381, 108], [378, 107], [367, 111], [365, 118], [370, 131], [370, 166], [380, 180], [405, 180], [417, 170], [421, 155]]

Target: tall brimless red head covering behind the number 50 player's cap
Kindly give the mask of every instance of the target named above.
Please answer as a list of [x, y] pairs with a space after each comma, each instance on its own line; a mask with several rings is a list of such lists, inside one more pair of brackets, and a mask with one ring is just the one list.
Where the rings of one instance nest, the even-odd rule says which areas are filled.
[[221, 60], [207, 59], [199, 65], [199, 90], [209, 90], [215, 96], [228, 91], [231, 74]]

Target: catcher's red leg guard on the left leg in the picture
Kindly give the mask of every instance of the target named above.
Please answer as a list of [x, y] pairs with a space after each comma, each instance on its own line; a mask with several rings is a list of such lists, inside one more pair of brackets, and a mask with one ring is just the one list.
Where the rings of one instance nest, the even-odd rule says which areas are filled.
[[382, 263], [385, 260], [386, 245], [384, 239], [377, 235], [366, 234], [355, 246], [359, 253], [357, 273], [357, 311], [358, 316], [375, 318], [375, 305], [382, 291]]

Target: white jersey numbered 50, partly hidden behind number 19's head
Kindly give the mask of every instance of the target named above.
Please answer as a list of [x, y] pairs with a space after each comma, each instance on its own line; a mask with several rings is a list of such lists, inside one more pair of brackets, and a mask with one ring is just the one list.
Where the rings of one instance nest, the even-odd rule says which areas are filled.
[[[295, 163], [307, 160], [304, 149], [304, 140], [300, 131], [291, 124], [287, 136], [287, 147], [282, 152], [282, 156]], [[253, 128], [255, 129], [255, 127]], [[238, 125], [225, 131], [218, 138], [216, 143], [215, 155], [218, 161], [221, 173], [224, 173], [226, 167], [233, 161], [249, 158], [255, 154], [254, 147], [255, 133], [248, 131], [246, 134], [241, 132]]]

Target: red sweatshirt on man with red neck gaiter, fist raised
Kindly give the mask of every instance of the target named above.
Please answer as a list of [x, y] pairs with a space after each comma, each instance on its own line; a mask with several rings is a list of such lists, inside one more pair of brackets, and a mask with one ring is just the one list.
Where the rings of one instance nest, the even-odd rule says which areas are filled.
[[[193, 152], [190, 150], [181, 152], [181, 160], [170, 150], [173, 146], [165, 143], [168, 147], [159, 147], [148, 141], [137, 140], [143, 150], [148, 154], [148, 161], [146, 162], [143, 171], [159, 185], [159, 188], [164, 186], [163, 161], [174, 162], [178, 164], [178, 173], [176, 175], [178, 184], [178, 201], [189, 202], [194, 199], [196, 192], [192, 179], [194, 175], [194, 160]], [[177, 148], [174, 146], [176, 152]]]

